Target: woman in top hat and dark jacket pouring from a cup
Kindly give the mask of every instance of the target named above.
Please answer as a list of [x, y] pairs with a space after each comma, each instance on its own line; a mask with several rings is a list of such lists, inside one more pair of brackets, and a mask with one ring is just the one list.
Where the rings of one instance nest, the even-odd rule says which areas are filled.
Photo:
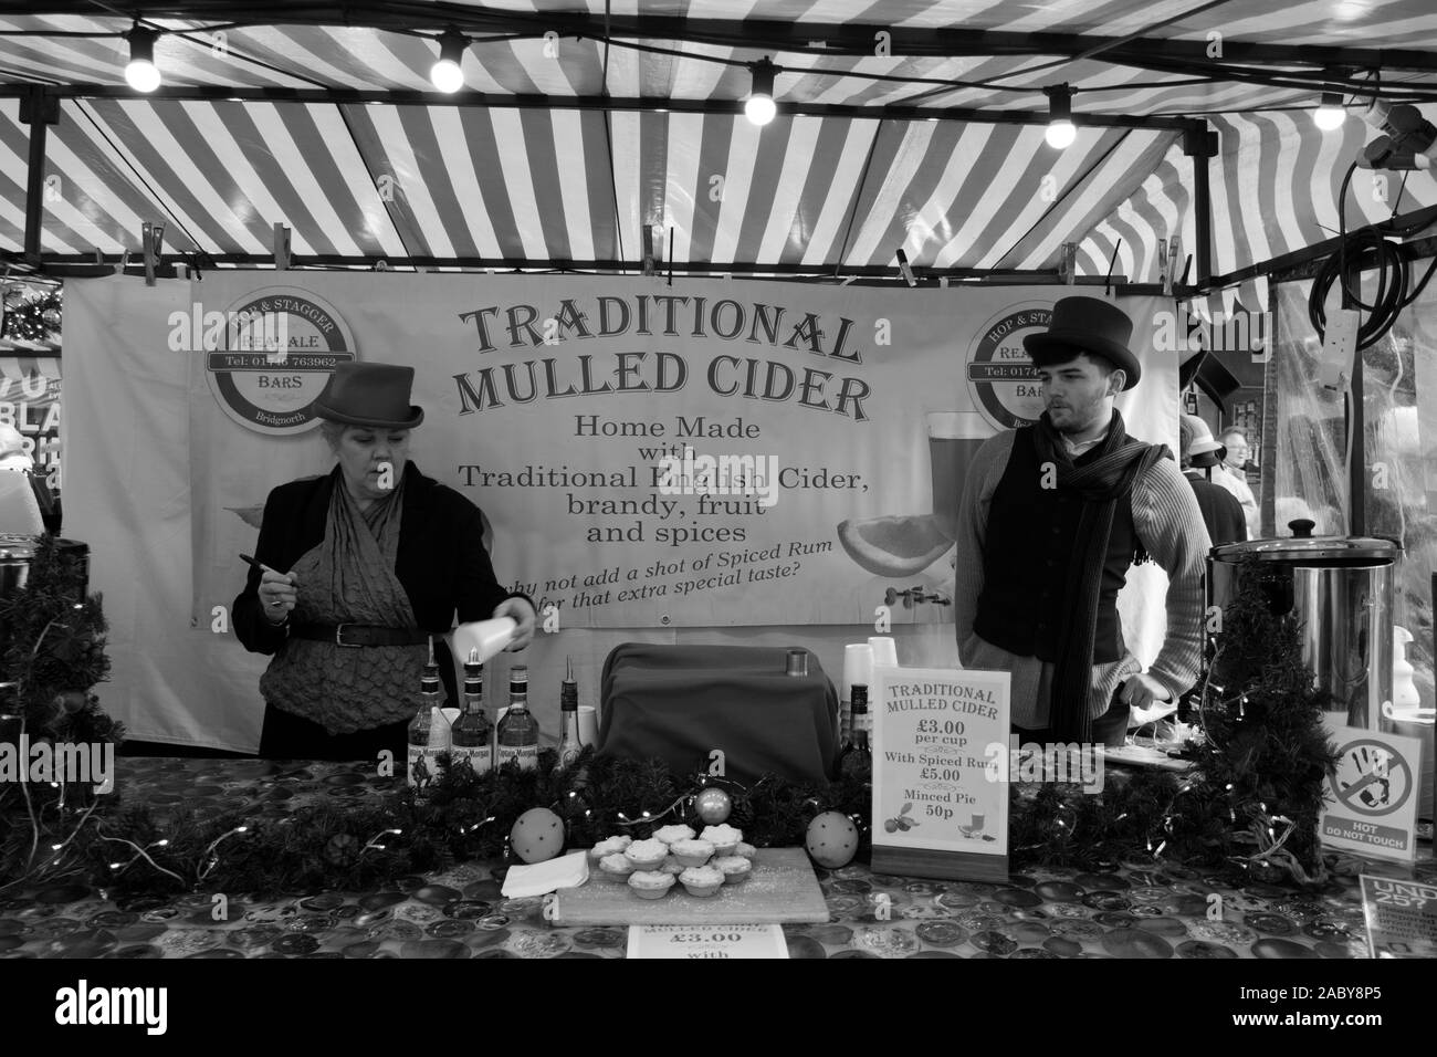
[[260, 679], [270, 759], [402, 758], [414, 690], [435, 637], [486, 617], [533, 639], [535, 607], [500, 587], [479, 508], [408, 462], [412, 367], [341, 364], [315, 401], [338, 462], [323, 477], [280, 485], [264, 503], [254, 557], [234, 600], [246, 649], [273, 654]]

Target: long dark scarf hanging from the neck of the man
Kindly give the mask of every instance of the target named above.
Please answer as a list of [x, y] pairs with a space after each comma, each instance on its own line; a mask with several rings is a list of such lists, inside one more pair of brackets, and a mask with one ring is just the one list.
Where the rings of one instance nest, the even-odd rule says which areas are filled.
[[[1046, 411], [1032, 433], [1039, 465], [1046, 472], [1046, 463], [1052, 463], [1058, 472], [1059, 490], [1075, 492], [1083, 500], [1068, 562], [1063, 595], [1066, 605], [1061, 614], [1062, 630], [1058, 637], [1048, 725], [1055, 741], [1086, 742], [1092, 736], [1088, 692], [1092, 686], [1092, 650], [1098, 634], [1098, 598], [1112, 519], [1118, 502], [1128, 502], [1138, 475], [1158, 459], [1171, 456], [1163, 444], [1144, 444], [1128, 437], [1117, 408], [1112, 410], [1106, 439], [1096, 447], [1096, 457], [1082, 466], [1073, 465], [1062, 434]], [[1147, 554], [1140, 542], [1134, 561], [1145, 559]]]

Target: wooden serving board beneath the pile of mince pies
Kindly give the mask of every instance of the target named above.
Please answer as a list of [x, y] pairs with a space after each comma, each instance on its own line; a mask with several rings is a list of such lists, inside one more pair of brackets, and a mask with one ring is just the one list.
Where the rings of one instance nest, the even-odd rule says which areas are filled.
[[576, 889], [559, 889], [555, 925], [776, 925], [828, 922], [828, 903], [803, 848], [759, 848], [753, 873], [717, 894], [690, 896], [681, 883], [644, 899], [627, 879], [598, 867]]

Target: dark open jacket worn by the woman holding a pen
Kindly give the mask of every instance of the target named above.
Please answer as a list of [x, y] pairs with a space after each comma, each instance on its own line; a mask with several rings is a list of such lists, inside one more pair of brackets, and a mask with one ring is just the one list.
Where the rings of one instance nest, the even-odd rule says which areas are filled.
[[[323, 477], [292, 480], [270, 492], [254, 548], [259, 561], [279, 572], [289, 572], [295, 562], [323, 542], [329, 499], [339, 473], [336, 466]], [[410, 595], [420, 627], [434, 633], [440, 674], [450, 700], [457, 703], [448, 650], [440, 636], [454, 626], [456, 613], [461, 624], [487, 620], [494, 616], [499, 603], [514, 595], [494, 578], [494, 567], [483, 545], [483, 516], [474, 503], [425, 477], [412, 462], [404, 465], [402, 502], [395, 575]], [[234, 633], [251, 653], [272, 654], [285, 646], [287, 633], [264, 617], [259, 582], [260, 571], [250, 568], [244, 590], [231, 608]], [[297, 584], [297, 590], [303, 595], [305, 584]]]

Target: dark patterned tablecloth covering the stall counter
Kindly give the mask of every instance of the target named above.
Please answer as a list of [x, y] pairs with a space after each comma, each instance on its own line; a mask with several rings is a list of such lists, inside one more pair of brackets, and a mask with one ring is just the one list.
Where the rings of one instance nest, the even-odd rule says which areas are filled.
[[[394, 779], [343, 764], [122, 759], [129, 801], [184, 802], [201, 815], [250, 808], [283, 817], [306, 804], [364, 802]], [[1417, 876], [1437, 879], [1431, 848]], [[1400, 871], [1329, 857], [1318, 894], [1270, 884], [1220, 887], [1177, 864], [1111, 873], [1029, 870], [1007, 884], [818, 870], [826, 925], [785, 926], [795, 958], [1364, 958], [1357, 874]], [[1207, 896], [1223, 896], [1223, 919]], [[879, 920], [888, 899], [890, 918]], [[404, 877], [381, 892], [285, 899], [208, 894], [108, 899], [79, 884], [0, 897], [0, 958], [622, 958], [622, 928], [553, 928], [542, 900], [504, 899], [489, 866]]]

